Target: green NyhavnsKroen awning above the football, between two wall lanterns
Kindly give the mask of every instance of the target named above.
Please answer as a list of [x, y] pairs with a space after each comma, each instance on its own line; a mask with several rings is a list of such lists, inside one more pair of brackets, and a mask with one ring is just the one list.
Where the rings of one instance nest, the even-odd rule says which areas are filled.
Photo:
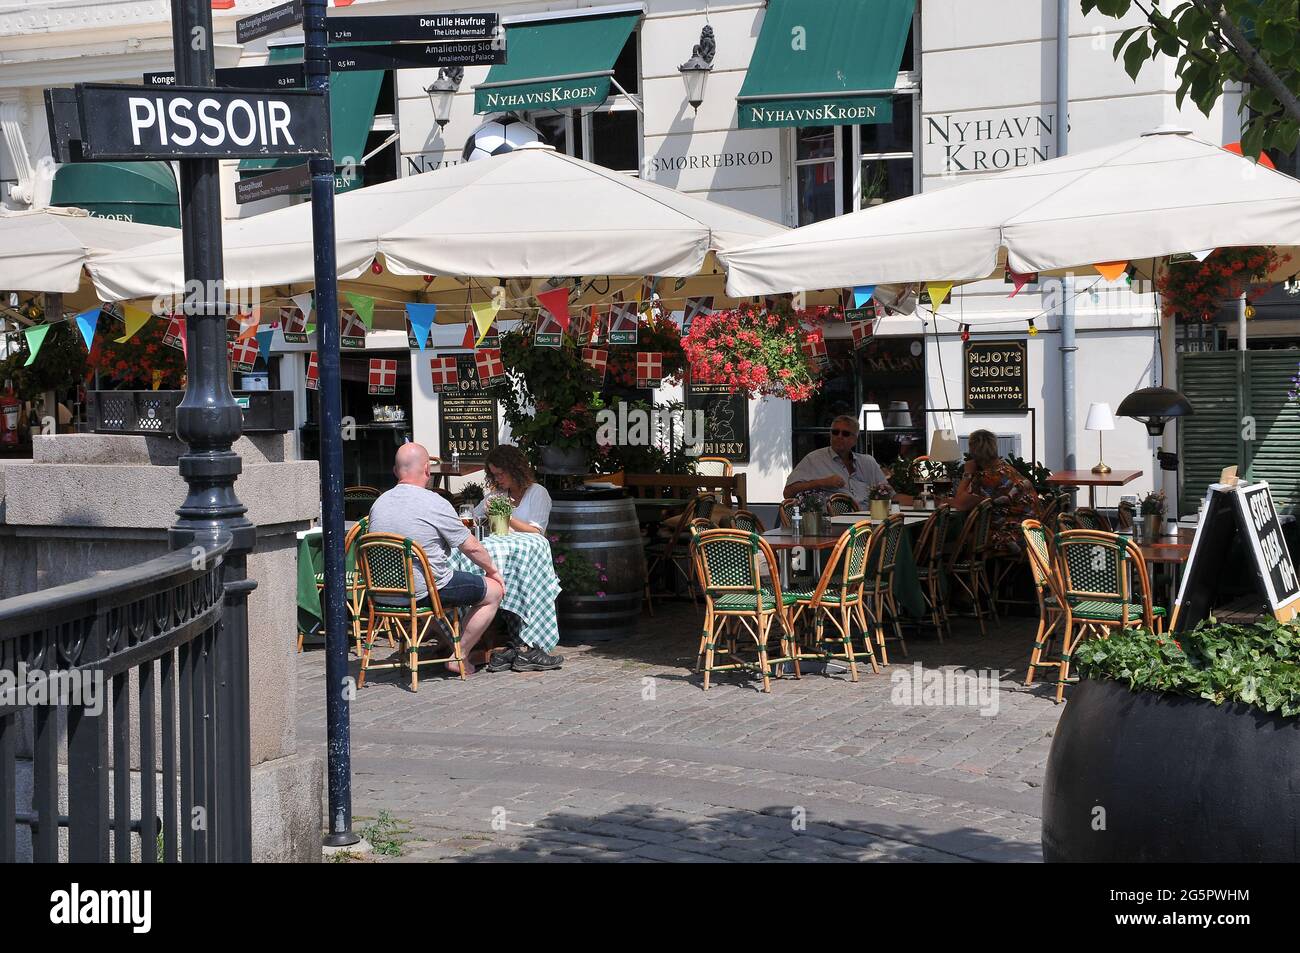
[[576, 109], [610, 98], [614, 64], [640, 12], [506, 26], [506, 60], [474, 87], [476, 113]]

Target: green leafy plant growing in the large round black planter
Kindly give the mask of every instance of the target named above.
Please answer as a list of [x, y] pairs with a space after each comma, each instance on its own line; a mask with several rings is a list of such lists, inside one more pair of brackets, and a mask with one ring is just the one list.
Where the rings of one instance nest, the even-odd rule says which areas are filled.
[[1082, 642], [1074, 658], [1082, 676], [1122, 681], [1135, 692], [1300, 715], [1300, 625], [1295, 623], [1264, 618], [1236, 625], [1208, 619], [1178, 637], [1126, 629]]

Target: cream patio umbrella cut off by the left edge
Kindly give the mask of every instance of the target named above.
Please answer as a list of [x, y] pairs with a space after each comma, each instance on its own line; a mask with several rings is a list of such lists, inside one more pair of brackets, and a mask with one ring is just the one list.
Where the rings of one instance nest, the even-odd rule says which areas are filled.
[[0, 212], [0, 289], [73, 294], [87, 261], [178, 234], [159, 225], [92, 218], [81, 208]]

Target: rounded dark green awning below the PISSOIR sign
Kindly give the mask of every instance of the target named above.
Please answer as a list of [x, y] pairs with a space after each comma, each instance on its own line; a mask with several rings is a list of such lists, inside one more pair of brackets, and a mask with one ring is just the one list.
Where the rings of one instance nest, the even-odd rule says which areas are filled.
[[55, 173], [51, 205], [96, 218], [181, 228], [181, 194], [166, 163], [70, 163]]

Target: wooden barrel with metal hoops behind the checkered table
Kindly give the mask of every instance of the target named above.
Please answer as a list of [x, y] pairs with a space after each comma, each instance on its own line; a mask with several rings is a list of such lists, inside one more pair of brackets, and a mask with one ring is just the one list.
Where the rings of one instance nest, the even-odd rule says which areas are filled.
[[607, 576], [599, 584], [603, 595], [560, 594], [560, 641], [607, 642], [632, 634], [646, 584], [645, 542], [633, 501], [623, 490], [558, 491], [546, 532], [604, 567]]

